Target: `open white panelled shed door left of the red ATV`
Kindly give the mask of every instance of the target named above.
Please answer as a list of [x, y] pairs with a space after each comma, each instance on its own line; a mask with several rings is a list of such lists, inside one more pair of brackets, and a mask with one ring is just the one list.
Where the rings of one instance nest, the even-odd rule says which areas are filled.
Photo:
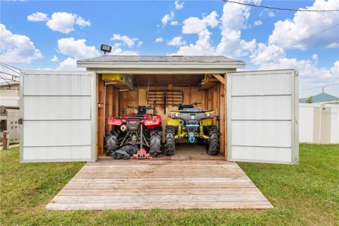
[[88, 71], [23, 71], [20, 161], [94, 160], [94, 89]]

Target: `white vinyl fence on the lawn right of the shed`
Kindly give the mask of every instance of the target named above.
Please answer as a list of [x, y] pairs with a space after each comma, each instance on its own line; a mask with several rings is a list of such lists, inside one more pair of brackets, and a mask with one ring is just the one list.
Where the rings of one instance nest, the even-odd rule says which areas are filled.
[[339, 105], [299, 104], [299, 142], [339, 143]]

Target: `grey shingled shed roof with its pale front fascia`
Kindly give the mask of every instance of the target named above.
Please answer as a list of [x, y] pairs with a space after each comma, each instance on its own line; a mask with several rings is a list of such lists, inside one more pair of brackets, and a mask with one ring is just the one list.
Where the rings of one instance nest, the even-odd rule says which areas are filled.
[[[105, 55], [77, 61], [78, 67], [88, 69], [117, 69], [128, 72], [132, 69], [157, 71], [224, 71], [225, 69], [242, 69], [244, 61], [222, 56], [115, 56]], [[134, 70], [135, 71], [135, 70]]]

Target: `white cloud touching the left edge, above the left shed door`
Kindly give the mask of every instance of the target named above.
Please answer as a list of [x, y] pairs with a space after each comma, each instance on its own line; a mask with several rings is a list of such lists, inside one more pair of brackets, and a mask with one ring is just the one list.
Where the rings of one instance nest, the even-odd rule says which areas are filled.
[[29, 37], [13, 34], [1, 23], [0, 52], [0, 61], [9, 64], [30, 64], [33, 60], [43, 57]]

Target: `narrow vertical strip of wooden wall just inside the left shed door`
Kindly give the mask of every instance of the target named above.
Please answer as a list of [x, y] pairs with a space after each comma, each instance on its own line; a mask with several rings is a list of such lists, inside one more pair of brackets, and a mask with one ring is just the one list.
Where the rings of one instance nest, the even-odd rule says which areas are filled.
[[105, 82], [97, 75], [97, 155], [104, 153]]

